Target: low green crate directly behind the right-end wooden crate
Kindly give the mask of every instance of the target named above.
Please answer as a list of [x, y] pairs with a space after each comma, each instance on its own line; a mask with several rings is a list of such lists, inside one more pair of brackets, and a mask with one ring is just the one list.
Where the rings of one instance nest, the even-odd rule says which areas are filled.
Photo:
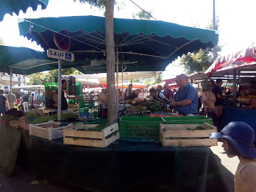
[[210, 124], [212, 125], [212, 119], [206, 116], [173, 116], [164, 117], [164, 124]]

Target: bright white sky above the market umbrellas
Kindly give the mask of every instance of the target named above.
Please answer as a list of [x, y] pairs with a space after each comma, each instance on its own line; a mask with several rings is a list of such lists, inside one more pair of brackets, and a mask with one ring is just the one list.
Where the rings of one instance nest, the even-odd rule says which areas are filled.
[[[115, 8], [114, 17], [132, 18], [132, 13], [140, 11], [129, 0], [116, 0], [122, 9]], [[145, 10], [152, 10], [157, 20], [173, 22], [184, 26], [193, 26], [196, 23], [200, 28], [205, 28], [212, 19], [212, 0], [134, 0]], [[223, 45], [222, 54], [228, 54], [248, 47], [255, 42], [255, 7], [253, 0], [216, 0], [216, 15], [220, 15], [220, 40]], [[60, 17], [73, 15], [103, 16], [103, 11], [90, 8], [88, 4], [80, 4], [79, 0], [49, 0], [46, 10], [30, 9], [26, 13], [20, 12], [19, 18]], [[5, 15], [0, 22], [0, 36], [6, 45], [29, 47], [40, 50], [40, 47], [31, 43], [23, 36], [19, 36], [17, 16]], [[164, 78], [171, 78], [182, 72], [180, 68], [169, 65], [164, 72]]]

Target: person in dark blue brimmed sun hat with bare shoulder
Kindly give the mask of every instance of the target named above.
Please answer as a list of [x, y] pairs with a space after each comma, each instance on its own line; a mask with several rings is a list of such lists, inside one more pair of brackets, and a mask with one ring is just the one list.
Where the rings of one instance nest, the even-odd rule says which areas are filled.
[[230, 122], [221, 132], [212, 132], [211, 139], [219, 138], [228, 157], [237, 156], [240, 163], [235, 174], [235, 191], [256, 191], [255, 132], [244, 122]]

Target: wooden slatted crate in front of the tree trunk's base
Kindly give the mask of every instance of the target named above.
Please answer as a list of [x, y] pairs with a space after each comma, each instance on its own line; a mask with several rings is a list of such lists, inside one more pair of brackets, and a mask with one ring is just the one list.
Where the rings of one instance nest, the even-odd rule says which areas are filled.
[[63, 130], [63, 143], [68, 145], [80, 145], [88, 147], [108, 147], [111, 143], [120, 138], [118, 124], [110, 125], [100, 132], [77, 131], [77, 129], [88, 130], [98, 124], [77, 124], [76, 127]]

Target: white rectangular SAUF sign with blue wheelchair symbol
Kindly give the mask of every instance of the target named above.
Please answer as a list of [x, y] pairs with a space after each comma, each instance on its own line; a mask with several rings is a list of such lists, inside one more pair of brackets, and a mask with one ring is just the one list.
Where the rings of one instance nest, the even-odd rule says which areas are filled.
[[47, 49], [47, 56], [49, 58], [54, 58], [63, 61], [74, 61], [75, 56], [72, 52], [60, 51], [58, 49]]

